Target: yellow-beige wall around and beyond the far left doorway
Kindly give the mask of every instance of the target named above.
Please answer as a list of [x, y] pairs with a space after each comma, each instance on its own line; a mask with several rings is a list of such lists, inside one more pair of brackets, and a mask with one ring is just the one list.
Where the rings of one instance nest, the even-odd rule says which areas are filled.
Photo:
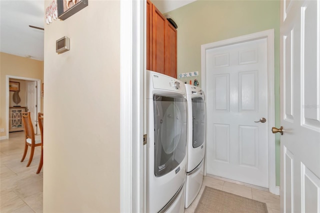
[[[1, 132], [0, 136], [7, 136], [6, 135], [6, 128], [5, 126], [5, 111], [6, 109], [6, 75], [18, 76], [18, 77], [25, 77], [25, 78], [34, 78], [40, 79], [43, 82], [43, 61], [34, 60], [30, 58], [20, 57], [12, 54], [7, 54], [4, 52], [0, 52], [0, 125], [1, 128], [4, 128], [4, 132]], [[19, 81], [19, 80], [14, 80]], [[23, 83], [20, 84], [20, 88], [23, 87]], [[12, 91], [10, 93], [9, 101], [12, 100]], [[19, 93], [20, 95], [20, 93]], [[21, 97], [21, 104], [25, 104], [25, 97], [23, 97], [23, 92]], [[11, 101], [13, 103], [13, 101]], [[43, 106], [43, 98], [41, 98], [41, 107]], [[42, 111], [42, 108], [40, 109]]]

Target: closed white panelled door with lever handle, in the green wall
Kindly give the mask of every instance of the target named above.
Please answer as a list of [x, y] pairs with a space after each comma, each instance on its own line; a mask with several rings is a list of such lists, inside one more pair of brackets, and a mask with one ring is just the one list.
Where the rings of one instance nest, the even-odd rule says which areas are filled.
[[268, 188], [267, 39], [207, 49], [205, 72], [206, 172]]

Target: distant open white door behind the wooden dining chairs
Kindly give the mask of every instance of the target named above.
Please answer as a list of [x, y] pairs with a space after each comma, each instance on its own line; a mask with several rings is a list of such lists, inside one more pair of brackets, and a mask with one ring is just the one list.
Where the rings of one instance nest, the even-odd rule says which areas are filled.
[[36, 81], [26, 83], [26, 106], [31, 115], [34, 133], [37, 134], [37, 88]]

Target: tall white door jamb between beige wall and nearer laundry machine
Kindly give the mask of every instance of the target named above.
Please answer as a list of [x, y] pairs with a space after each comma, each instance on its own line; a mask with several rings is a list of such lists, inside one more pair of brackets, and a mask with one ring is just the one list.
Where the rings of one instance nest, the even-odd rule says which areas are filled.
[[145, 212], [146, 0], [120, 0], [120, 212]]

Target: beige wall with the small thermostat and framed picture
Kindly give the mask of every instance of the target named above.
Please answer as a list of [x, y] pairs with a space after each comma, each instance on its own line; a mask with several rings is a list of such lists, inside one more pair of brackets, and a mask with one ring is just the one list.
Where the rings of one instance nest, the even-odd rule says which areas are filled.
[[119, 212], [120, 1], [44, 28], [43, 212]]

